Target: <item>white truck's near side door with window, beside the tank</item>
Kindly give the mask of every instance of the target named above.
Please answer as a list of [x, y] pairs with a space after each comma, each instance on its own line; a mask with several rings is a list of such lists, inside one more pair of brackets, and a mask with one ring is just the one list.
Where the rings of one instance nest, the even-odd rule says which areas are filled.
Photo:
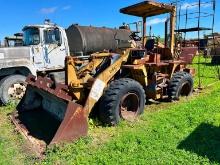
[[58, 28], [44, 30], [44, 59], [47, 69], [64, 68], [67, 50]]

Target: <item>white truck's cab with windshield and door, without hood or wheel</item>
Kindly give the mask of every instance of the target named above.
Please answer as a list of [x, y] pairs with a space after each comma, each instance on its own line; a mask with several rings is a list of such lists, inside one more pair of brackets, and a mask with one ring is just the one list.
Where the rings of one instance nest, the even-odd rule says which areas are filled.
[[64, 67], [69, 54], [65, 29], [55, 25], [29, 25], [24, 27], [24, 46], [30, 47], [30, 54], [37, 71]]

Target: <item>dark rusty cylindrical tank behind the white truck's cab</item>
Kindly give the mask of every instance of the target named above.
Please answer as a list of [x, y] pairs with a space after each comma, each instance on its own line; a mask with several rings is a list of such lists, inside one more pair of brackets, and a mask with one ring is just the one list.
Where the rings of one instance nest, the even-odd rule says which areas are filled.
[[115, 50], [119, 40], [131, 40], [131, 31], [126, 29], [71, 25], [66, 34], [70, 52], [75, 55]]

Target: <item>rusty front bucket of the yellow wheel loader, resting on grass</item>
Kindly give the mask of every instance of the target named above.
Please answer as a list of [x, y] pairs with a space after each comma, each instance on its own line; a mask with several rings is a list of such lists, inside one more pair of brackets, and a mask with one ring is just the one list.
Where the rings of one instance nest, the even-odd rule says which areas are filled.
[[86, 136], [87, 115], [72, 101], [65, 85], [51, 88], [51, 80], [29, 76], [27, 90], [11, 115], [16, 129], [24, 135], [35, 153], [41, 155], [48, 145]]

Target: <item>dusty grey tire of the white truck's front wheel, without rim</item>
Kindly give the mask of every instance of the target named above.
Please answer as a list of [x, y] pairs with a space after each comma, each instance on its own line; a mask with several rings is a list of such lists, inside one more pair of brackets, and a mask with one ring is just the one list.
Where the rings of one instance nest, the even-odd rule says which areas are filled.
[[5, 78], [3, 78], [0, 81], [0, 104], [6, 105], [8, 104], [10, 100], [10, 96], [8, 94], [8, 90], [13, 84], [24, 84], [26, 85], [26, 77], [23, 75], [10, 75]]

